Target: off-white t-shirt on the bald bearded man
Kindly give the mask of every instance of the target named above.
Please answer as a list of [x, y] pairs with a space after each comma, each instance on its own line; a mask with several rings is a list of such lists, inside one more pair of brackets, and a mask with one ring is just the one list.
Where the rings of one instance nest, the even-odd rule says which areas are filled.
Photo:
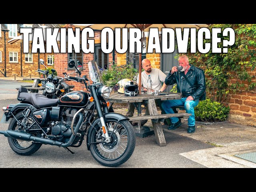
[[[165, 81], [166, 74], [164, 74], [164, 72], [162, 72], [160, 69], [152, 68], [150, 78], [152, 81], [152, 89], [160, 90], [162, 87], [162, 82]], [[139, 84], [139, 75], [137, 77], [137, 83]], [[145, 71], [141, 73], [141, 86], [145, 88], [148, 87], [148, 75]]]

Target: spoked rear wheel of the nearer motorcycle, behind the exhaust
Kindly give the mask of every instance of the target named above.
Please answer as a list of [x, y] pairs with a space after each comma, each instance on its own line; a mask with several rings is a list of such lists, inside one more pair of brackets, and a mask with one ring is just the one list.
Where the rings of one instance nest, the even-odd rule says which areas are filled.
[[[21, 122], [24, 116], [22, 115], [22, 112], [19, 112], [18, 114], [15, 115], [16, 119]], [[19, 128], [20, 124], [16, 121], [15, 118], [12, 118], [10, 125], [8, 127], [8, 130], [14, 130], [14, 131], [19, 131], [19, 132], [25, 132], [24, 128]], [[28, 117], [28, 127], [32, 125], [34, 120], [32, 117]], [[36, 124], [33, 125], [32, 128], [36, 128]], [[34, 136], [40, 136], [39, 133], [33, 134]], [[8, 137], [8, 142], [10, 147], [14, 152], [16, 152], [19, 155], [31, 155], [35, 153], [41, 146], [42, 144], [39, 143], [33, 143], [32, 141], [24, 141], [24, 140], [19, 140], [19, 139], [14, 139]]]

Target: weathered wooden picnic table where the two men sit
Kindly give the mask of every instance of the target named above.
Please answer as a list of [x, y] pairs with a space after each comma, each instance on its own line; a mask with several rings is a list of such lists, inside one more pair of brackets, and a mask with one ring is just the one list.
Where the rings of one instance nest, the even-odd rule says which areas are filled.
[[[160, 122], [164, 122], [165, 118], [170, 117], [183, 117], [187, 118], [191, 114], [178, 113], [178, 114], [158, 114], [155, 100], [174, 100], [182, 98], [181, 93], [168, 93], [167, 95], [153, 95], [153, 94], [140, 94], [137, 96], [125, 96], [124, 94], [115, 92], [110, 95], [108, 102], [111, 103], [133, 103], [138, 110], [138, 116], [129, 117], [130, 121], [138, 120], [138, 129], [135, 129], [136, 136], [145, 137], [150, 135], [150, 130], [141, 127], [141, 120], [151, 119], [154, 134], [156, 136], [156, 142], [160, 146], [166, 146], [162, 125]], [[148, 106], [149, 116], [141, 116], [141, 105], [146, 103]]]

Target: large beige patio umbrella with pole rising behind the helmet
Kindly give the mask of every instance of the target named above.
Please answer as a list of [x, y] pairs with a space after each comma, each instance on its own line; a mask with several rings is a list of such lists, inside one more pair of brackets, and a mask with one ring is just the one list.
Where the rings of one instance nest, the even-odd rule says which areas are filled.
[[[84, 29], [86, 27], [90, 27], [94, 30], [102, 30], [106, 27], [115, 30], [115, 28], [139, 28], [143, 33], [142, 37], [144, 37], [144, 32], [148, 32], [150, 28], [158, 28], [158, 31], [162, 31], [162, 28], [196, 28], [200, 29], [202, 27], [208, 27], [209, 24], [73, 24], [77, 28]], [[141, 94], [141, 68], [142, 68], [142, 54], [139, 53], [139, 94]]]

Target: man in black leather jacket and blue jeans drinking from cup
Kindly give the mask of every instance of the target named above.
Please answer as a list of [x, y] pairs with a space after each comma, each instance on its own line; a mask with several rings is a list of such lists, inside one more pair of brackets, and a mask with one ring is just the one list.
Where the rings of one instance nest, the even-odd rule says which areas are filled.
[[[186, 113], [192, 114], [188, 118], [188, 133], [195, 132], [195, 113], [194, 108], [199, 103], [199, 98], [205, 93], [206, 83], [204, 71], [200, 68], [189, 64], [186, 55], [180, 56], [178, 59], [179, 66], [183, 69], [178, 71], [177, 67], [172, 67], [168, 76], [165, 79], [166, 85], [177, 84], [177, 92], [182, 93], [180, 100], [166, 100], [162, 102], [162, 108], [166, 114], [174, 113], [172, 107], [184, 106]], [[186, 75], [187, 80], [184, 78]], [[189, 83], [188, 83], [189, 81]], [[179, 118], [170, 118], [172, 125], [168, 130], [174, 130], [181, 125]]]

